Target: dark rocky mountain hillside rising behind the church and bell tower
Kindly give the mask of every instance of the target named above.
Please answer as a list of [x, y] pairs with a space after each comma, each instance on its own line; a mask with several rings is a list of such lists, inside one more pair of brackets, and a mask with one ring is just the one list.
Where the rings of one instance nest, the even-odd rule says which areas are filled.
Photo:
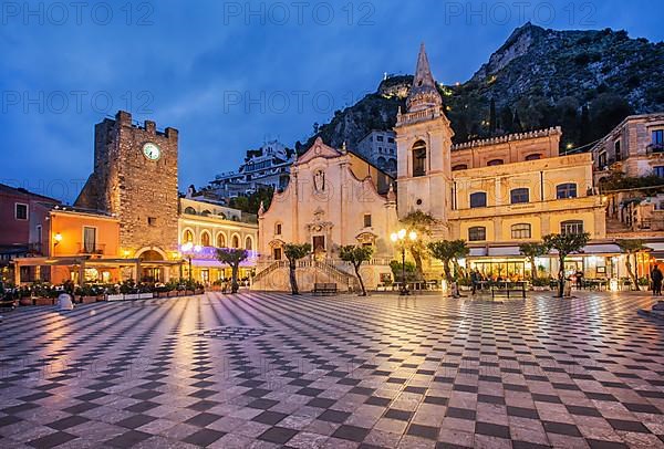
[[[629, 114], [664, 111], [664, 43], [625, 31], [557, 31], [531, 23], [463, 84], [439, 85], [455, 143], [560, 125], [561, 146], [579, 148]], [[434, 74], [435, 75], [435, 74]], [[391, 129], [412, 76], [383, 81], [374, 94], [338, 111], [314, 135], [349, 148], [371, 129]]]

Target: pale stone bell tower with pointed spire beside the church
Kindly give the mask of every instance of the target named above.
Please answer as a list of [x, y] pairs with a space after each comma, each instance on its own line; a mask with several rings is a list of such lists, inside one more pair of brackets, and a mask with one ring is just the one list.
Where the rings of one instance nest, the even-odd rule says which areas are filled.
[[419, 48], [406, 112], [396, 116], [397, 187], [400, 218], [416, 210], [440, 221], [434, 230], [447, 238], [452, 206], [450, 148], [454, 132], [443, 112], [424, 43]]

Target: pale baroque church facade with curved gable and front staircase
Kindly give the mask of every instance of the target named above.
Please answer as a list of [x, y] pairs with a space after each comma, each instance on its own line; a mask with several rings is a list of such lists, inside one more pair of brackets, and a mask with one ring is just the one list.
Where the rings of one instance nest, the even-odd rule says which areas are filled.
[[396, 229], [392, 178], [363, 158], [332, 148], [319, 138], [291, 167], [283, 192], [276, 194], [269, 210], [259, 211], [259, 262], [256, 290], [288, 290], [286, 243], [310, 243], [313, 254], [300, 262], [300, 286], [335, 282], [341, 290], [354, 286], [350, 267], [339, 259], [339, 248], [374, 248], [374, 259], [363, 268], [366, 284], [390, 276], [393, 255], [390, 233]]

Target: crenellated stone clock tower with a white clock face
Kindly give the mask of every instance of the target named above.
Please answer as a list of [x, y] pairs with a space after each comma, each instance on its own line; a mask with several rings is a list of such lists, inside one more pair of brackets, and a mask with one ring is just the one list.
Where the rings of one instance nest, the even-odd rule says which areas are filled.
[[168, 260], [177, 251], [178, 132], [115, 119], [95, 125], [94, 171], [75, 206], [116, 216], [124, 257]]

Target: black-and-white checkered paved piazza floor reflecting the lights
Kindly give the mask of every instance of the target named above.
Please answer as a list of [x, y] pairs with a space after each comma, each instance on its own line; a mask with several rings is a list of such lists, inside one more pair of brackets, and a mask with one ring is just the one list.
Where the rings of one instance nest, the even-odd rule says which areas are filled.
[[30, 307], [0, 324], [0, 447], [664, 447], [647, 296], [374, 295]]

